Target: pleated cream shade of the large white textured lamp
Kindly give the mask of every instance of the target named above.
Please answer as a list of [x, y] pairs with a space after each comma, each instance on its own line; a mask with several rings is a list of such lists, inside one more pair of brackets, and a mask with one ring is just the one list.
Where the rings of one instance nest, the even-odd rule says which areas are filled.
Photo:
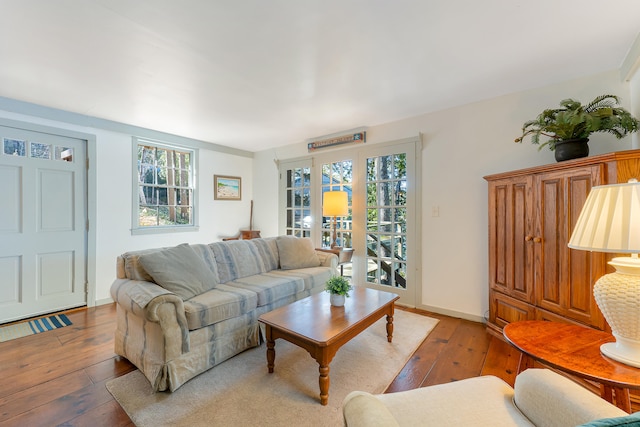
[[593, 187], [569, 240], [570, 248], [640, 252], [640, 183]]

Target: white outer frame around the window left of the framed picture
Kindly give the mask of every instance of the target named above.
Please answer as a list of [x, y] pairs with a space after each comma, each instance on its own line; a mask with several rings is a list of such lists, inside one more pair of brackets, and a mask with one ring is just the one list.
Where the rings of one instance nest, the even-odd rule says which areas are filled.
[[[156, 226], [140, 226], [138, 224], [138, 213], [140, 211], [140, 198], [138, 196], [139, 181], [138, 181], [138, 146], [152, 146], [156, 148], [163, 148], [167, 150], [177, 150], [183, 152], [189, 152], [191, 156], [190, 170], [189, 170], [189, 189], [191, 190], [192, 210], [191, 210], [191, 224], [173, 224], [173, 225], [156, 225]], [[198, 231], [198, 185], [197, 185], [197, 170], [198, 170], [198, 149], [194, 147], [188, 147], [178, 144], [168, 144], [160, 141], [155, 141], [148, 138], [133, 137], [132, 138], [132, 188], [131, 188], [131, 234], [159, 234], [159, 233], [180, 233]]]

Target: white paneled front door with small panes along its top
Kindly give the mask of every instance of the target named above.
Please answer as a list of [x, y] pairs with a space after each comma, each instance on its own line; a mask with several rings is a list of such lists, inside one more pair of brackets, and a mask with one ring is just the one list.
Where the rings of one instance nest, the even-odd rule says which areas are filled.
[[0, 323], [86, 304], [86, 141], [0, 126]]

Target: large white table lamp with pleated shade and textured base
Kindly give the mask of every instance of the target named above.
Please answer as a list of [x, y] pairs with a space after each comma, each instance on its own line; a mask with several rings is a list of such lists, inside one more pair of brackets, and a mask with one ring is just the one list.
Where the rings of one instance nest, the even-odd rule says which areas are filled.
[[593, 187], [580, 212], [569, 247], [628, 253], [609, 264], [593, 287], [596, 303], [611, 326], [615, 342], [603, 344], [605, 356], [640, 367], [640, 183]]

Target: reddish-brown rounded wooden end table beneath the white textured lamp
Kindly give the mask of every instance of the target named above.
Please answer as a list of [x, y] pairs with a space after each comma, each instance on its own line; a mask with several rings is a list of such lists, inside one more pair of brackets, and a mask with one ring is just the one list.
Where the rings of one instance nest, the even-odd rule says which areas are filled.
[[532, 360], [600, 384], [600, 396], [631, 412], [629, 389], [640, 389], [640, 369], [610, 359], [600, 346], [615, 341], [613, 335], [559, 322], [524, 320], [506, 325], [504, 337], [523, 355], [518, 373]]

